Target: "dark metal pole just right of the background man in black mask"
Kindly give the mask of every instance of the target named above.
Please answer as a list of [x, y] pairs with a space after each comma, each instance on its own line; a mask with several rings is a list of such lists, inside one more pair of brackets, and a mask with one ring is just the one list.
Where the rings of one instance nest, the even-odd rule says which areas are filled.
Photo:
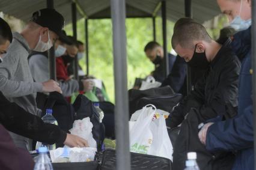
[[165, 59], [165, 77], [169, 74], [169, 58], [167, 53], [167, 33], [166, 33], [166, 1], [162, 1], [162, 28], [163, 28], [163, 58]]

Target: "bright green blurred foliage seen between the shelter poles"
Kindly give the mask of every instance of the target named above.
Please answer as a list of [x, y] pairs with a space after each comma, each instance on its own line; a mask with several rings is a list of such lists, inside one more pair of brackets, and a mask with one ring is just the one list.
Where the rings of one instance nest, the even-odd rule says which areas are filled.
[[[112, 102], [114, 102], [114, 59], [112, 53], [112, 23], [110, 19], [89, 20], [89, 72], [102, 79]], [[168, 22], [168, 50], [171, 49], [173, 23]], [[162, 44], [162, 20], [156, 19], [157, 41]], [[73, 35], [72, 25], [65, 27], [68, 35]], [[152, 19], [126, 19], [127, 36], [127, 82], [133, 87], [135, 77], [145, 77], [154, 70], [154, 65], [146, 58], [144, 46], [153, 40]], [[85, 42], [84, 19], [78, 21], [78, 40]], [[86, 70], [85, 58], [79, 61]]]

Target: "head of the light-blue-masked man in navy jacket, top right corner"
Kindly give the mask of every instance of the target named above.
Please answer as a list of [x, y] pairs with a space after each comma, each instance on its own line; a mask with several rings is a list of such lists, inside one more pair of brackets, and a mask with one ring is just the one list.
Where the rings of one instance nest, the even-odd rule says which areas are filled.
[[251, 26], [251, 0], [217, 0], [222, 13], [236, 31], [242, 31]]

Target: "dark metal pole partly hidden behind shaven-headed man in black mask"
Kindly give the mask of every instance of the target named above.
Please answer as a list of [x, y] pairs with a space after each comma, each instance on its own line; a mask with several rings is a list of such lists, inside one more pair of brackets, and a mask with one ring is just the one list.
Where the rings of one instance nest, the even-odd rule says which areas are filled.
[[[192, 2], [191, 0], [185, 1], [185, 17], [192, 18]], [[191, 68], [187, 65], [187, 94], [192, 90]]]

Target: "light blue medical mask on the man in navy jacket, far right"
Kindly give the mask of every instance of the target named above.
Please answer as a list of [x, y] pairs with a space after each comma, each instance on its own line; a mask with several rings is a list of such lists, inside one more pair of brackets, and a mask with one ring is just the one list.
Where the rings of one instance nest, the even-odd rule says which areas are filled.
[[249, 27], [251, 26], [251, 23], [252, 23], [252, 20], [251, 20], [251, 19], [243, 20], [243, 19], [241, 18], [242, 5], [243, 5], [243, 0], [241, 0], [239, 16], [236, 16], [236, 17], [230, 22], [230, 26], [231, 26], [232, 28], [236, 29], [236, 31], [245, 30], [245, 29], [249, 28]]

